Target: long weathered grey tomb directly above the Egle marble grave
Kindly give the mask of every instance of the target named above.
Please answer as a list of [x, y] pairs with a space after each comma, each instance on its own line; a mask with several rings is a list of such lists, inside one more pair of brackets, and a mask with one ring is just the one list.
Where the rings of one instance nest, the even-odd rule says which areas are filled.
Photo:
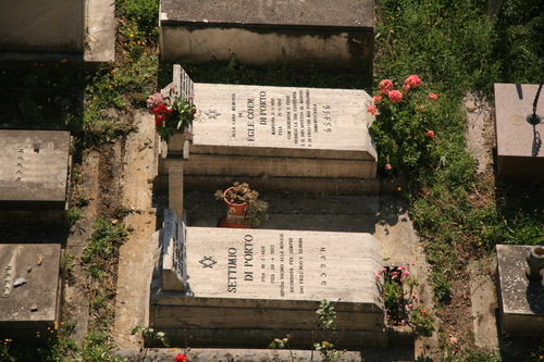
[[373, 0], [161, 0], [161, 58], [371, 70]]

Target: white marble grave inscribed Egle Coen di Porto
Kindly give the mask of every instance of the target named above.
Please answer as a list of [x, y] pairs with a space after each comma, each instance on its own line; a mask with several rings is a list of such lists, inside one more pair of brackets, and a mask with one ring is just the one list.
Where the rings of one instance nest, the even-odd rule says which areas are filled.
[[199, 110], [186, 189], [214, 191], [226, 176], [269, 192], [378, 192], [366, 91], [194, 84], [174, 68], [165, 90], [194, 91]]

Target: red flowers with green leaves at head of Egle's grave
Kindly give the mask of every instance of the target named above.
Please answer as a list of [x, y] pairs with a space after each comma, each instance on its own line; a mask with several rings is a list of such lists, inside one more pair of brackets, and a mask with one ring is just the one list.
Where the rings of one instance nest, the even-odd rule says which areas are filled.
[[166, 143], [174, 133], [183, 134], [185, 137], [193, 136], [190, 129], [197, 113], [193, 104], [194, 98], [193, 93], [181, 98], [171, 89], [169, 96], [158, 91], [147, 99], [147, 109], [154, 114], [157, 133]]

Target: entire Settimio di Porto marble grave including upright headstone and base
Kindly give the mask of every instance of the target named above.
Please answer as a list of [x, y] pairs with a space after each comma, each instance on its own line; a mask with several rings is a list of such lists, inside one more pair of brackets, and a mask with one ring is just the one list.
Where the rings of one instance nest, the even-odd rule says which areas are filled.
[[[166, 210], [150, 323], [175, 345], [256, 346], [293, 336], [311, 346], [316, 311], [336, 302], [339, 346], [385, 346], [370, 234], [190, 227]], [[319, 337], [321, 338], [321, 337]]]

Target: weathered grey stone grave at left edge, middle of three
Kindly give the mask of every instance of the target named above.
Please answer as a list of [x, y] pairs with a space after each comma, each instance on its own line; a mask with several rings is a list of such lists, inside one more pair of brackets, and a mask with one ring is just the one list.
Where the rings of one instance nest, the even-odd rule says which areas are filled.
[[71, 136], [0, 129], [0, 224], [67, 223]]

